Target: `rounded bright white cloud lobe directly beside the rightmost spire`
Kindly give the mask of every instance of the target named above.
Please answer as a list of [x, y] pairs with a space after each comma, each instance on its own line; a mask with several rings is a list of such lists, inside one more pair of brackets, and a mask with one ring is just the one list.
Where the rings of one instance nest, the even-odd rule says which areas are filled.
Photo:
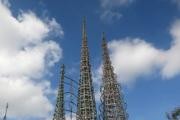
[[149, 74], [162, 61], [159, 58], [162, 51], [138, 38], [113, 40], [108, 45], [115, 72], [125, 83], [142, 74]]

